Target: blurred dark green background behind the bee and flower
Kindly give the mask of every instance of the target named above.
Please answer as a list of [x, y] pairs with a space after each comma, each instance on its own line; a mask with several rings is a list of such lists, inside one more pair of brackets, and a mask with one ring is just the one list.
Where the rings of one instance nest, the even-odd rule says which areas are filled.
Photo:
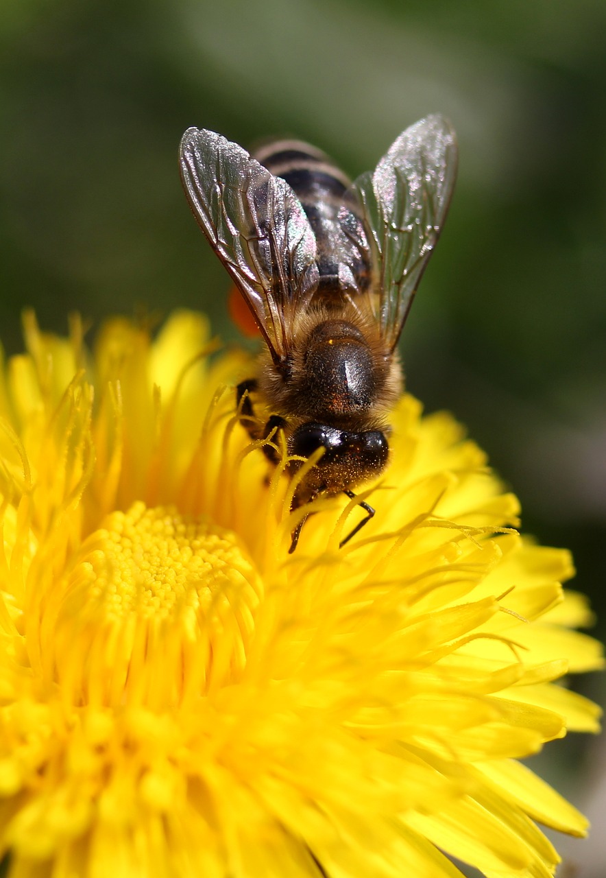
[[[460, 178], [403, 333], [408, 386], [467, 424], [525, 530], [574, 550], [603, 636], [605, 104], [603, 0], [3, 0], [5, 349], [24, 306], [60, 332], [78, 310], [91, 336], [108, 313], [203, 308], [236, 337], [179, 183], [188, 126], [292, 133], [357, 176], [444, 112]], [[603, 701], [599, 676], [574, 685]], [[603, 828], [603, 746], [541, 760]], [[604, 874], [603, 838], [564, 845], [579, 878]]]

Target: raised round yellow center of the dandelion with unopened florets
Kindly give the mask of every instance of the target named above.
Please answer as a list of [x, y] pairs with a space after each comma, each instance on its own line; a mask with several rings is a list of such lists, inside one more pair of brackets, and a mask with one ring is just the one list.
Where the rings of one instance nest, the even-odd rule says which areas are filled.
[[260, 580], [230, 531], [140, 502], [103, 523], [46, 615], [60, 685], [77, 702], [127, 690], [166, 708], [239, 679]]

